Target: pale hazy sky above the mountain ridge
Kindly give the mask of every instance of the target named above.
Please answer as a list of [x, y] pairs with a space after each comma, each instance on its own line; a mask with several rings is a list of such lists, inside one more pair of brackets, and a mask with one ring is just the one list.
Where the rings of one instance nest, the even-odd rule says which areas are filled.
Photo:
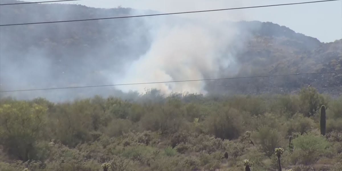
[[[125, 8], [150, 9], [169, 13], [307, 1], [314, 0], [82, 0], [69, 3], [95, 8], [116, 8], [121, 5]], [[342, 1], [180, 15], [205, 17], [211, 20], [269, 21], [287, 26], [295, 32], [318, 38], [323, 42], [342, 38]]]

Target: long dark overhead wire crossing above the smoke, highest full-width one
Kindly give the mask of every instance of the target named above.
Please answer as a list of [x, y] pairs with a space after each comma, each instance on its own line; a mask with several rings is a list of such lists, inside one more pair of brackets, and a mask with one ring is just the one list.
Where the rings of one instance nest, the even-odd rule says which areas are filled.
[[237, 9], [248, 9], [248, 8], [262, 8], [262, 7], [282, 6], [282, 5], [308, 4], [308, 3], [318, 3], [318, 2], [328, 2], [328, 1], [341, 1], [341, 0], [322, 0], [322, 1], [284, 3], [284, 4], [274, 4], [274, 5], [247, 6], [247, 7], [240, 7], [240, 8], [227, 8], [227, 9], [217, 9], [217, 10], [188, 11], [188, 12], [175, 12], [175, 13], [163, 13], [163, 14], [134, 15], [134, 16], [108, 17], [108, 18], [93, 18], [93, 19], [77, 19], [77, 20], [68, 20], [68, 21], [52, 21], [52, 22], [21, 23], [21, 24], [3, 24], [3, 25], [0, 25], [0, 26], [15, 26], [15, 25], [28, 25], [28, 24], [46, 24], [46, 23], [64, 23], [64, 22], [77, 22], [77, 21], [92, 21], [92, 20], [101, 20], [101, 19], [117, 19], [117, 18], [147, 17], [147, 16], [157, 16], [157, 15], [187, 14], [187, 13], [225, 11], [225, 10], [237, 10]]

